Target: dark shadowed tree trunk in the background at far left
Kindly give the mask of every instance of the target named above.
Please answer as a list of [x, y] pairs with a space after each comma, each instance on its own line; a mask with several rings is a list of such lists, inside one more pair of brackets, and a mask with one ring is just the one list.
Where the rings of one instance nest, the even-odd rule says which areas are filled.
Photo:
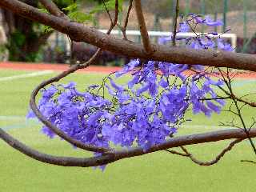
[[[38, 7], [37, 0], [22, 0], [30, 6]], [[40, 33], [35, 30], [38, 25], [9, 10], [2, 10], [2, 25], [8, 38], [7, 48], [12, 61], [34, 61], [40, 47], [46, 43], [51, 32]]]

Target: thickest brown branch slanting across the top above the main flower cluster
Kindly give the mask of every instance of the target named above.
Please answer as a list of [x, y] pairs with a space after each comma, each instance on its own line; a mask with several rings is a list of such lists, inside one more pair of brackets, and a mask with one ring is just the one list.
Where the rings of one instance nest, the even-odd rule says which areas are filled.
[[[109, 50], [114, 54], [127, 55], [130, 58], [148, 59], [148, 54], [145, 53], [141, 45], [114, 38], [111, 35], [103, 34], [94, 28], [84, 26], [77, 22], [69, 22], [65, 19], [42, 13], [33, 6], [28, 6], [23, 2], [17, 0], [1, 0], [0, 6], [22, 17], [41, 22], [64, 34], [69, 34], [70, 38], [76, 42], [88, 42], [103, 50]], [[126, 47], [126, 49], [123, 49], [123, 47]], [[150, 59], [154, 61], [222, 66], [256, 71], [256, 56], [251, 54], [238, 54], [220, 50], [193, 50], [158, 45], [152, 45], [152, 47], [154, 47], [154, 53], [150, 55]]]

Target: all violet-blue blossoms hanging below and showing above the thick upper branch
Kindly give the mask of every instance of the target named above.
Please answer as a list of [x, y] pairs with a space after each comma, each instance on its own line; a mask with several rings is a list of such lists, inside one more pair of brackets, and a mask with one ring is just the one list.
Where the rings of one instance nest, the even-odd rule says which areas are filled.
[[[198, 24], [218, 26], [210, 18], [190, 14]], [[188, 22], [182, 22], [179, 31], [188, 31]], [[210, 33], [196, 38], [177, 39], [185, 41], [194, 49], [230, 50], [230, 46]], [[160, 42], [170, 42], [162, 38]], [[186, 73], [186, 71], [193, 71]], [[116, 79], [130, 75], [126, 85], [119, 85]], [[186, 111], [206, 116], [219, 113], [224, 105], [217, 98], [214, 87], [222, 81], [214, 81], [203, 66], [189, 66], [168, 62], [130, 61], [122, 70], [104, 78], [102, 86], [90, 86], [79, 92], [74, 82], [68, 85], [51, 85], [42, 90], [38, 108], [60, 130], [84, 143], [94, 146], [130, 147], [141, 146], [148, 150], [173, 135], [182, 122]], [[108, 90], [108, 95], [104, 89]], [[103, 91], [102, 91], [103, 90]], [[102, 94], [99, 94], [102, 93]], [[207, 99], [206, 99], [207, 98]], [[28, 117], [34, 117], [30, 112]], [[54, 137], [47, 127], [42, 132]]]

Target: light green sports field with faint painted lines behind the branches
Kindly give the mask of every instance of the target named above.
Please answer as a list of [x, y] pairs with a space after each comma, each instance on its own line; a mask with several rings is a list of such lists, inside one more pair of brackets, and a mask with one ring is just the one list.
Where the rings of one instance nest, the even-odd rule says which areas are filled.
[[[37, 121], [26, 120], [31, 90], [55, 72], [27, 78], [4, 78], [31, 73], [34, 71], [0, 70], [0, 127], [26, 145], [44, 153], [90, 155], [81, 150], [74, 150], [58, 138], [46, 138], [40, 133], [40, 124]], [[72, 74], [64, 82], [78, 82], [79, 88], [82, 89], [101, 82], [104, 75]], [[234, 90], [240, 95], [244, 92], [255, 92], [256, 80], [236, 81]], [[251, 109], [244, 111], [247, 121], [250, 121], [250, 116], [254, 114]], [[186, 123], [186, 126], [179, 130], [179, 134], [221, 129], [218, 127], [218, 121], [225, 122], [231, 118], [230, 114], [226, 113], [214, 115], [213, 118], [195, 115], [192, 116], [192, 122]], [[210, 160], [227, 143], [209, 143], [187, 148], [199, 159]], [[114, 162], [102, 173], [101, 170], [93, 168], [60, 167], [37, 162], [0, 141], [0, 191], [254, 191], [256, 166], [242, 163], [241, 159], [255, 160], [247, 141], [236, 146], [218, 164], [210, 167], [198, 166], [189, 159], [161, 151]]]

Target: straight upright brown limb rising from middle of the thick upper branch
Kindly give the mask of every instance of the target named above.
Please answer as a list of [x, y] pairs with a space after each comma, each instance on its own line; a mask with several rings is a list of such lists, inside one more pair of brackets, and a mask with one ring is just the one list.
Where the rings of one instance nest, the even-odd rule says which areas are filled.
[[139, 30], [141, 31], [141, 35], [142, 35], [142, 42], [143, 42], [144, 49], [146, 50], [146, 54], [152, 54], [153, 50], [150, 45], [150, 37], [146, 29], [146, 23], [145, 23], [145, 18], [142, 11], [141, 0], [134, 0], [134, 6], [137, 14]]

